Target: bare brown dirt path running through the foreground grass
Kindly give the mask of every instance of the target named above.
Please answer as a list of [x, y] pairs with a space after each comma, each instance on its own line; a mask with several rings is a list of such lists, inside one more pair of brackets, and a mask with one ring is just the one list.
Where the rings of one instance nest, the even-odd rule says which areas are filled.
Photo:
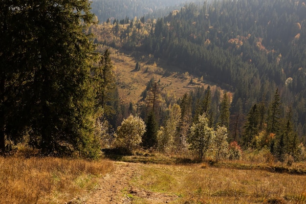
[[114, 162], [114, 171], [99, 181], [99, 188], [86, 204], [132, 204], [135, 197], [150, 204], [170, 203], [177, 196], [156, 193], [135, 186], [135, 179], [140, 179], [145, 164]]

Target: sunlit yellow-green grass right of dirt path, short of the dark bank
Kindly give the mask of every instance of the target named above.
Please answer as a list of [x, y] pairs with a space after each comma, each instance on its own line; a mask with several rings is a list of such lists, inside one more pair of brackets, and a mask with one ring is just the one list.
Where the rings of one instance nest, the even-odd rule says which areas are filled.
[[[144, 165], [132, 184], [175, 195], [173, 204], [305, 204], [306, 176], [189, 165]], [[133, 196], [133, 204], [146, 204]], [[158, 202], [157, 202], [158, 203]]]

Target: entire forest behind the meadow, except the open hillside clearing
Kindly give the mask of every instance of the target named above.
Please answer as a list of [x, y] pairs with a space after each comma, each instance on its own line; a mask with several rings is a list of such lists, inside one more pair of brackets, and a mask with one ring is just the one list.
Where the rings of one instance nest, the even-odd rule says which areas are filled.
[[[102, 147], [141, 146], [216, 161], [239, 159], [241, 148], [306, 159], [305, 2], [216, 0], [172, 11], [165, 4], [168, 15], [157, 19], [145, 15], [161, 1], [96, 0], [96, 16], [87, 0], [77, 2], [1, 7], [2, 153], [25, 143], [42, 155], [90, 158]], [[152, 78], [140, 101], [122, 103], [111, 49], [218, 87], [176, 99]], [[133, 71], [146, 72], [141, 64]]]

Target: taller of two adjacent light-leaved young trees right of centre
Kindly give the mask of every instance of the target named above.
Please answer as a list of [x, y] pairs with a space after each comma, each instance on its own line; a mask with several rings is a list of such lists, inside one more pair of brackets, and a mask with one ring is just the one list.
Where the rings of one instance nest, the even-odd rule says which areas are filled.
[[190, 128], [190, 136], [187, 142], [190, 149], [197, 153], [199, 159], [202, 159], [211, 146], [214, 139], [214, 129], [209, 127], [209, 121], [206, 114], [199, 115], [197, 123], [193, 123]]

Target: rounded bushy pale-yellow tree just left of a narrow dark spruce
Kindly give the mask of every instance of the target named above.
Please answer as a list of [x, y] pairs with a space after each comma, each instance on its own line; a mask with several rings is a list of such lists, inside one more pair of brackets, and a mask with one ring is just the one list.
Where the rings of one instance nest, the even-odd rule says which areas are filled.
[[141, 143], [141, 138], [145, 132], [145, 122], [140, 117], [131, 114], [128, 118], [123, 119], [121, 125], [117, 128], [116, 139], [120, 146], [131, 152]]

